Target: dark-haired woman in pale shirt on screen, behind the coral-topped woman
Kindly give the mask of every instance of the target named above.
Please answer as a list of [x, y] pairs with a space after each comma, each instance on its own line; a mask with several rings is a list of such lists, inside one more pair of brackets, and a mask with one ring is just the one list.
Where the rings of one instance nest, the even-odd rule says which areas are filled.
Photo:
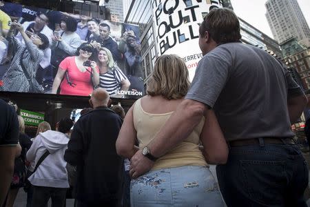
[[65, 59], [76, 55], [76, 50], [81, 45], [81, 38], [76, 34], [77, 22], [70, 16], [64, 16], [60, 22], [61, 30], [54, 30], [52, 36], [52, 57], [51, 64], [58, 69], [59, 63]]

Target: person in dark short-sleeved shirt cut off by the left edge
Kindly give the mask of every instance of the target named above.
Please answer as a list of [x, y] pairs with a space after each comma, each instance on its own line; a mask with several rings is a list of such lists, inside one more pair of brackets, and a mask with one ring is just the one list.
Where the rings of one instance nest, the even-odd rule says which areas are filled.
[[12, 106], [0, 99], [0, 206], [2, 206], [14, 171], [19, 139], [19, 121]]

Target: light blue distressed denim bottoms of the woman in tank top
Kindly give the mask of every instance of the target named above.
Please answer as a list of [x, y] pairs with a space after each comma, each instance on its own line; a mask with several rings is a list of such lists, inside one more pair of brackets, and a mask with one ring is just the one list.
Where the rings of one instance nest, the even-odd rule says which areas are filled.
[[209, 168], [183, 166], [153, 170], [132, 179], [132, 207], [224, 206]]

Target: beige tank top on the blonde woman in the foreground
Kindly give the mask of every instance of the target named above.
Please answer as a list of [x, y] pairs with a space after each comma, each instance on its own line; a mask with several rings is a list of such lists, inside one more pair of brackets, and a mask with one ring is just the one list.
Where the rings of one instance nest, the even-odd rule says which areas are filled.
[[[149, 144], [149, 141], [156, 136], [172, 113], [151, 114], [143, 110], [141, 99], [136, 101], [133, 115], [139, 148]], [[203, 153], [198, 148], [200, 132], [203, 129], [204, 121], [205, 119], [203, 118], [187, 139], [167, 152], [167, 154], [158, 158], [152, 170], [180, 166], [207, 166], [205, 157], [203, 157]]]

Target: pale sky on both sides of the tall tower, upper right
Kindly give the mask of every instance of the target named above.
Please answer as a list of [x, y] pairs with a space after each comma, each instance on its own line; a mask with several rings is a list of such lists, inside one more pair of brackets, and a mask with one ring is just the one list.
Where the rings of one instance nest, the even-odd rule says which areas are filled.
[[[265, 17], [266, 1], [267, 0], [231, 0], [231, 4], [238, 17], [273, 38]], [[302, 14], [304, 14], [308, 26], [310, 26], [310, 0], [297, 0], [297, 2], [302, 10]]]

